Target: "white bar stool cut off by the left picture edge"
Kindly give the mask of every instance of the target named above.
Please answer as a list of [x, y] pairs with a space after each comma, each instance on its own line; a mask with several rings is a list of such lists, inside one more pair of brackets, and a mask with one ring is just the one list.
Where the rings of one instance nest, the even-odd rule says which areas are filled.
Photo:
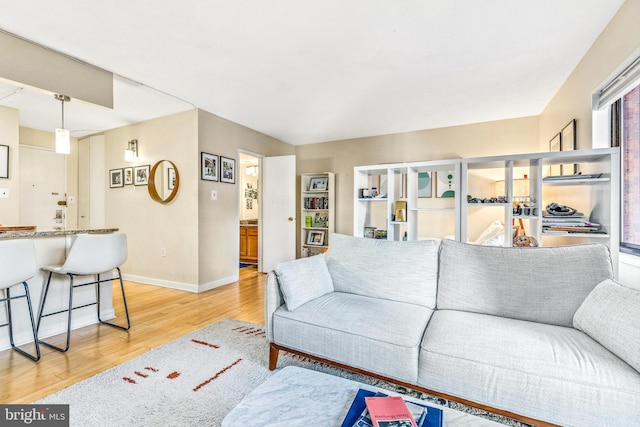
[[[40, 346], [38, 345], [36, 325], [33, 321], [33, 308], [31, 306], [31, 297], [29, 296], [27, 280], [35, 276], [36, 271], [36, 254], [31, 240], [6, 240], [0, 242], [0, 290], [2, 290], [3, 294], [3, 298], [0, 298], [0, 302], [5, 303], [7, 313], [7, 323], [3, 323], [0, 327], [9, 327], [9, 342], [11, 343], [11, 348], [35, 362], [40, 360]], [[11, 296], [11, 288], [19, 285], [20, 283], [22, 283], [22, 286], [24, 287], [24, 294]], [[11, 301], [20, 298], [26, 298], [27, 300], [29, 320], [31, 321], [31, 332], [33, 334], [33, 343], [35, 345], [35, 355], [29, 354], [16, 346], [13, 340]]]

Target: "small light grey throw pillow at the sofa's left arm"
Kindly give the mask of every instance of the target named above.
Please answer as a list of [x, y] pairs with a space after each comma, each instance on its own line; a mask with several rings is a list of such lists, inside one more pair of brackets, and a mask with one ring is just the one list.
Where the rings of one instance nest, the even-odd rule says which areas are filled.
[[275, 272], [289, 311], [333, 292], [333, 282], [322, 255], [282, 262], [276, 265]]

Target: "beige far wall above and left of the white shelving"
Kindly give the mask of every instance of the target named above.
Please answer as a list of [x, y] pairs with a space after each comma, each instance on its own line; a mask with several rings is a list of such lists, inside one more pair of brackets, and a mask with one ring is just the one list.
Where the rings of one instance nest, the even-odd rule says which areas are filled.
[[538, 126], [537, 117], [525, 117], [302, 145], [296, 147], [297, 174], [336, 174], [335, 230], [352, 234], [354, 166], [537, 152]]

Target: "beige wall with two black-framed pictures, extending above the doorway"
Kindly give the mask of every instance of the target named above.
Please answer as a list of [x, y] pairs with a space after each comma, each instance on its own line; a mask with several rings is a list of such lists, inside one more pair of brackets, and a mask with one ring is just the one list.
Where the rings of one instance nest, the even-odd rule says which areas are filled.
[[[281, 156], [294, 153], [294, 147], [274, 138], [198, 111], [199, 151], [236, 159], [238, 150], [262, 156]], [[194, 162], [200, 153], [192, 154]], [[197, 168], [199, 173], [199, 163]], [[198, 234], [200, 254], [200, 289], [209, 289], [237, 279], [239, 260], [240, 184], [202, 181], [198, 178]], [[211, 200], [211, 190], [218, 192], [218, 200]]]

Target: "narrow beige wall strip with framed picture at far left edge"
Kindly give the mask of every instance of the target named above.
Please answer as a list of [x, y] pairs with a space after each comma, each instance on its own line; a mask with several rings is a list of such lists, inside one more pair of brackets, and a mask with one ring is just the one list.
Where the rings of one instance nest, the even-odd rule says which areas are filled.
[[0, 178], [0, 188], [9, 189], [9, 198], [0, 199], [0, 224], [4, 225], [17, 225], [19, 218], [18, 118], [18, 110], [0, 106], [0, 144], [9, 146], [9, 179]]

